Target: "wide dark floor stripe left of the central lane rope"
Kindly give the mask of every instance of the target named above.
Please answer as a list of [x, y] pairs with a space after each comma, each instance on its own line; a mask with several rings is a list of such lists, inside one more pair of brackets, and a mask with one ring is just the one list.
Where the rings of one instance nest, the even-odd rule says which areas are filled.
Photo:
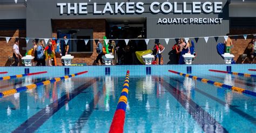
[[[91, 79], [83, 85], [80, 85], [79, 87], [75, 88], [75, 90], [73, 90], [71, 93], [63, 95], [57, 101], [52, 102], [52, 104], [48, 106], [48, 108], [50, 108], [50, 113], [46, 113], [45, 107], [41, 109], [39, 112], [37, 112], [35, 115], [31, 116], [21, 125], [19, 125], [19, 127], [12, 132], [35, 132], [39, 127], [41, 127], [41, 125], [44, 124], [44, 122], [46, 122], [51, 116], [58, 112], [60, 108], [65, 106], [65, 104], [68, 104], [69, 101], [74, 99], [78, 94], [82, 93], [84, 90], [86, 90], [94, 83], [96, 83], [96, 79]], [[56, 104], [56, 102], [58, 104]]]

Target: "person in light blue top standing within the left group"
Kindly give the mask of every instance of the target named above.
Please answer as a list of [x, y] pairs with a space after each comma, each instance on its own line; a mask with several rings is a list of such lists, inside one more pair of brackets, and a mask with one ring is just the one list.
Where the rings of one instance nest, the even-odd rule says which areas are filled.
[[37, 64], [36, 66], [45, 66], [45, 58], [44, 58], [44, 40], [40, 40], [39, 45], [37, 46]]

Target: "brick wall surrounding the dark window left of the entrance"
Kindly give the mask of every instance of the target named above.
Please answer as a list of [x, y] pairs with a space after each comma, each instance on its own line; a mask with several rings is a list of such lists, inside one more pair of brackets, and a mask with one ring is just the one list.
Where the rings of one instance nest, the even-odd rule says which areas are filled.
[[[65, 19], [65, 20], [52, 20], [52, 36], [57, 38], [58, 29], [78, 29], [78, 28], [91, 28], [93, 29], [93, 39], [103, 39], [106, 34], [106, 20], [105, 19]], [[92, 65], [97, 57], [96, 43], [93, 41], [92, 54], [72, 54], [75, 58], [72, 63], [86, 63]], [[57, 56], [57, 65], [62, 65], [60, 56]]]

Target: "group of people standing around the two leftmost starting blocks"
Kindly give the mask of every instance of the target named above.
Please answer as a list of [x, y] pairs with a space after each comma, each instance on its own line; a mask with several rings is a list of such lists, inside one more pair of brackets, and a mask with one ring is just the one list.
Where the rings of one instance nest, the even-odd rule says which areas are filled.
[[[67, 39], [66, 36], [63, 38], [64, 40]], [[57, 65], [56, 64], [56, 55], [60, 54], [60, 56], [65, 56], [68, 54], [69, 45], [66, 44], [64, 40], [60, 41], [62, 47], [57, 47], [57, 43], [54, 39], [50, 39], [48, 45], [45, 45], [44, 40], [40, 40], [38, 43], [36, 40], [33, 40], [33, 48], [27, 53], [35, 57], [32, 60], [33, 66], [45, 66], [46, 62], [48, 66]], [[22, 58], [21, 53], [19, 53], [19, 40], [15, 40], [14, 44], [14, 63], [11, 64], [12, 67], [19, 66], [19, 60]]]

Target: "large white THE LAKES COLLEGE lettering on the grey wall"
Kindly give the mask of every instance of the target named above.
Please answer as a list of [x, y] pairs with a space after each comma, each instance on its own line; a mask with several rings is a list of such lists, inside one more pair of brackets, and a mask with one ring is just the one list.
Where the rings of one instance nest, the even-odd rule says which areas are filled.
[[[178, 8], [177, 2], [153, 2], [150, 4], [150, 12], [152, 13], [220, 13], [222, 10], [223, 2], [192, 2], [192, 4], [187, 4], [186, 2], [182, 3], [183, 6]], [[64, 8], [66, 8], [68, 14], [87, 14], [87, 5], [88, 3], [57, 3], [57, 7], [60, 9], [60, 14], [64, 13]], [[192, 6], [191, 10], [188, 6]], [[72, 12], [71, 12], [72, 11]], [[115, 2], [110, 4], [107, 2], [104, 6], [104, 9], [99, 10], [97, 3], [93, 3], [93, 14], [118, 14], [118, 13], [143, 13], [145, 11], [143, 2]]]

